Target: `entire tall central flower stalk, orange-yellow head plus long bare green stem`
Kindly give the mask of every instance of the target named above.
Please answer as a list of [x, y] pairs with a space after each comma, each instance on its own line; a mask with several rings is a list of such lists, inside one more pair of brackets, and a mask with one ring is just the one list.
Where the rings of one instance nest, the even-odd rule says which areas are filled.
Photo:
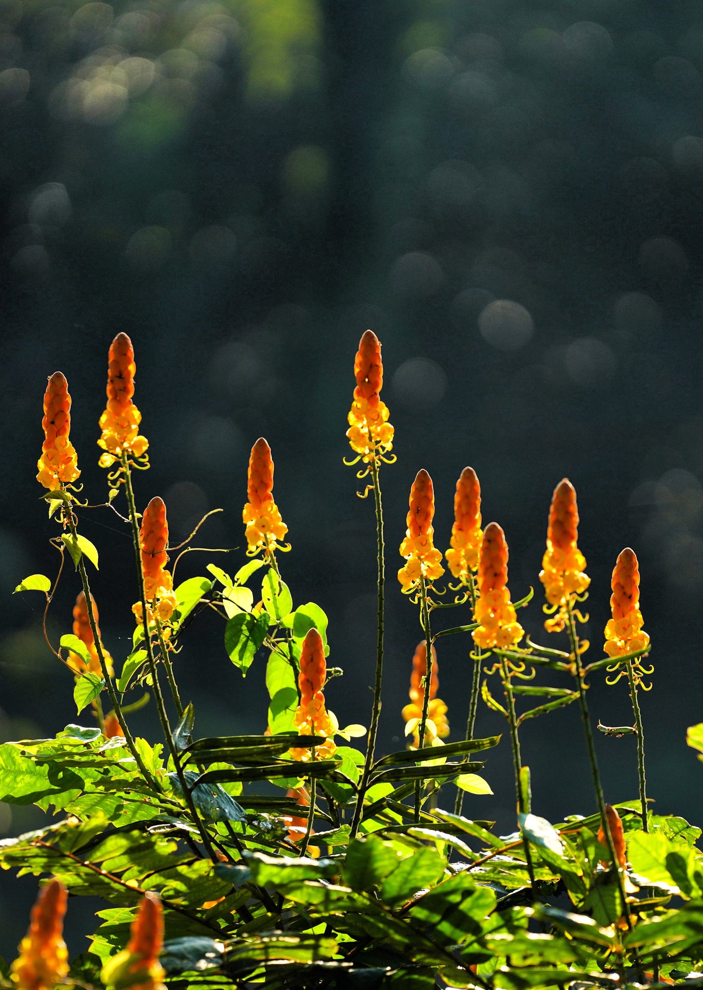
[[373, 681], [373, 703], [371, 725], [368, 730], [366, 754], [358, 785], [356, 805], [351, 819], [351, 836], [355, 836], [361, 822], [363, 800], [368, 788], [368, 780], [373, 765], [373, 754], [378, 737], [378, 723], [381, 715], [381, 688], [383, 683], [383, 637], [385, 626], [385, 545], [383, 542], [383, 507], [379, 469], [381, 461], [391, 464], [395, 455], [390, 453], [393, 446], [393, 427], [388, 422], [388, 407], [381, 400], [383, 387], [383, 361], [380, 341], [367, 330], [358, 344], [353, 365], [356, 386], [353, 390], [348, 421], [350, 428], [347, 437], [355, 456], [345, 461], [350, 466], [361, 462], [356, 472], [359, 480], [370, 477], [362, 498], [373, 491], [373, 504], [376, 517], [376, 669]]

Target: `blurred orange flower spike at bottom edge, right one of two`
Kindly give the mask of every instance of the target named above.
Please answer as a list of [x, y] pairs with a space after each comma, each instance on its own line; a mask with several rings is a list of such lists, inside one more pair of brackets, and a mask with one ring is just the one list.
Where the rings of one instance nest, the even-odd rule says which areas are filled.
[[114, 990], [164, 990], [158, 955], [163, 944], [163, 913], [155, 894], [141, 901], [127, 947], [102, 968], [103, 983]]

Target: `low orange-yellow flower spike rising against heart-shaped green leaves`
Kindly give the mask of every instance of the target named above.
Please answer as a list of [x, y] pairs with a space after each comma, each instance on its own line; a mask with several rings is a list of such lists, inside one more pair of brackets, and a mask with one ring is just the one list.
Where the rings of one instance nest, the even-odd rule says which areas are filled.
[[[300, 651], [300, 673], [298, 687], [300, 688], [300, 704], [295, 710], [293, 728], [300, 736], [324, 736], [326, 743], [315, 746], [315, 756], [328, 759], [336, 750], [334, 736], [339, 729], [337, 719], [325, 707], [325, 678], [327, 663], [325, 661], [325, 644], [316, 629], [311, 629]], [[290, 750], [293, 759], [309, 760], [312, 752], [309, 748], [293, 748]]]

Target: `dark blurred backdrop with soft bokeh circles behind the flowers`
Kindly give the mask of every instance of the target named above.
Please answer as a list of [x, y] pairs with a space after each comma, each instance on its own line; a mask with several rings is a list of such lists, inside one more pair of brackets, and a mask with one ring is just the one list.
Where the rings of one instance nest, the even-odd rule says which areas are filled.
[[[105, 497], [95, 442], [119, 331], [137, 351], [151, 441], [141, 503], [163, 495], [179, 539], [222, 506], [196, 543], [239, 547], [190, 554], [180, 577], [210, 559], [243, 562], [248, 452], [265, 435], [293, 545], [284, 576], [296, 604], [328, 612], [331, 662], [345, 668], [328, 701], [342, 725], [368, 725], [372, 505], [342, 458], [353, 355], [370, 327], [398, 454], [383, 469], [381, 748], [403, 744], [420, 638], [395, 582], [418, 468], [435, 480], [442, 549], [455, 479], [476, 469], [484, 521], [510, 544], [513, 597], [537, 585], [520, 618], [543, 641], [537, 575], [567, 474], [592, 577], [591, 655], [615, 557], [632, 545], [656, 667], [643, 698], [650, 790], [657, 811], [699, 822], [703, 768], [684, 739], [703, 719], [702, 71], [697, 0], [1, 0], [2, 738], [76, 718], [70, 675], [43, 641], [41, 596], [11, 592], [57, 563], [35, 481], [57, 368], [81, 480], [91, 502]], [[136, 598], [130, 538], [107, 510], [81, 529], [101, 553], [94, 590], [119, 668]], [[54, 641], [77, 590], [67, 570]], [[441, 642], [452, 739], [468, 650]], [[200, 735], [262, 731], [263, 667], [257, 657], [243, 682], [215, 616], [189, 632], [177, 668]], [[595, 676], [589, 699], [594, 719], [631, 720], [622, 682]], [[134, 725], [157, 738], [152, 708]], [[481, 711], [478, 729], [503, 726]], [[576, 711], [527, 724], [523, 739], [534, 810], [592, 812]], [[598, 748], [607, 797], [635, 797], [633, 739]], [[495, 796], [464, 809], [512, 831], [507, 745], [485, 776]], [[43, 820], [0, 806], [5, 836]], [[10, 958], [35, 890], [2, 877]], [[100, 907], [71, 901], [72, 952]]]

